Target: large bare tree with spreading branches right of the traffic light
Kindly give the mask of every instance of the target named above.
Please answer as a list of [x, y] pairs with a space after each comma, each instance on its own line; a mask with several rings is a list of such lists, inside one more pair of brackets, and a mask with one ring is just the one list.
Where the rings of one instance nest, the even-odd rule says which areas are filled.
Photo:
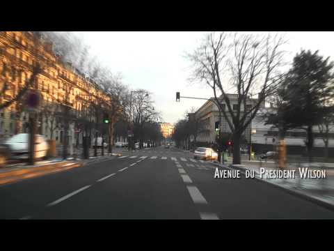
[[[285, 43], [282, 36], [255, 36], [239, 33], [209, 33], [202, 45], [187, 54], [193, 63], [193, 80], [204, 82], [214, 91], [214, 98], [233, 135], [233, 164], [240, 164], [240, 139], [250, 121], [255, 117], [266, 96], [276, 89], [282, 77], [278, 68], [283, 63]], [[226, 74], [225, 78], [223, 78]], [[233, 109], [228, 86], [237, 94], [237, 109]], [[218, 97], [221, 93], [226, 107]], [[246, 103], [254, 95], [258, 99], [247, 109]]]

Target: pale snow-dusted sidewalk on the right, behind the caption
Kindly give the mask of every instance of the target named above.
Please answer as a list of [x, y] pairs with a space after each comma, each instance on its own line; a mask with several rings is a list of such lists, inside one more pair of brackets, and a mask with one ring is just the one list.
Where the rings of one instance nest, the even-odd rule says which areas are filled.
[[[232, 160], [231, 160], [232, 161]], [[225, 165], [218, 164], [215, 165], [225, 167], [228, 169], [240, 169], [244, 172], [246, 169], [253, 170], [255, 172], [255, 179], [257, 181], [262, 181], [275, 185], [277, 188], [283, 188], [284, 190], [314, 201], [317, 204], [326, 206], [328, 208], [334, 208], [334, 168], [333, 164], [323, 165], [323, 163], [291, 163], [287, 165], [287, 169], [296, 170], [295, 178], [267, 178], [266, 176], [260, 177], [260, 168], [264, 170], [277, 169], [276, 162], [260, 162], [260, 161], [249, 161], [241, 160], [242, 165], [232, 165], [229, 161], [225, 162]], [[299, 176], [299, 167], [309, 167], [310, 169], [322, 169], [326, 170], [326, 178], [301, 178]]]

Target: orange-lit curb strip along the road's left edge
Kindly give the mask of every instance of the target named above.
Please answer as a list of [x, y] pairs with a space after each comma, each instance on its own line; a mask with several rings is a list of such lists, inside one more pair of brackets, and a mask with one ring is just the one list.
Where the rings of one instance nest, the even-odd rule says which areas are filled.
[[26, 178], [35, 178], [54, 172], [61, 172], [74, 167], [81, 167], [81, 162], [61, 162], [53, 165], [45, 165], [40, 167], [31, 167], [19, 169], [0, 174], [0, 185], [6, 185], [15, 181], [22, 181]]

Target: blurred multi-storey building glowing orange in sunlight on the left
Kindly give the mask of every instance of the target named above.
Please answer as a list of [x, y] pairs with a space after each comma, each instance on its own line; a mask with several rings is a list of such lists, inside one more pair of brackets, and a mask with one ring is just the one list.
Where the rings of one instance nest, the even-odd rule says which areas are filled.
[[[33, 74], [33, 66], [40, 63], [42, 71], [29, 89], [39, 91], [42, 105], [38, 109], [38, 133], [56, 143], [63, 143], [63, 107], [70, 107], [69, 143], [81, 137], [83, 121], [93, 121], [94, 105], [110, 98], [97, 84], [86, 78], [70, 63], [61, 61], [52, 50], [52, 44], [31, 31], [0, 32], [0, 104], [13, 99]], [[49, 106], [48, 106], [49, 105]], [[56, 109], [56, 111], [54, 111]], [[74, 118], [76, 118], [74, 120]], [[28, 132], [29, 112], [24, 97], [0, 109], [0, 141], [11, 135]]]

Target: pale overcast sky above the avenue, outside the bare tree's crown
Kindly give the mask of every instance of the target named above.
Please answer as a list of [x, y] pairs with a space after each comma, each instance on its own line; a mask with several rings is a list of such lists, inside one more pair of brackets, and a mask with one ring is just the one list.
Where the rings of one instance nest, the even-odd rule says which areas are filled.
[[[210, 98], [208, 86], [190, 84], [191, 70], [185, 52], [192, 52], [206, 32], [79, 32], [90, 52], [113, 71], [122, 73], [130, 89], [152, 92], [157, 110], [165, 122], [176, 123], [191, 107], [200, 107], [205, 100], [181, 99], [181, 96]], [[287, 61], [301, 50], [319, 50], [334, 60], [334, 32], [284, 32], [288, 43]]]

